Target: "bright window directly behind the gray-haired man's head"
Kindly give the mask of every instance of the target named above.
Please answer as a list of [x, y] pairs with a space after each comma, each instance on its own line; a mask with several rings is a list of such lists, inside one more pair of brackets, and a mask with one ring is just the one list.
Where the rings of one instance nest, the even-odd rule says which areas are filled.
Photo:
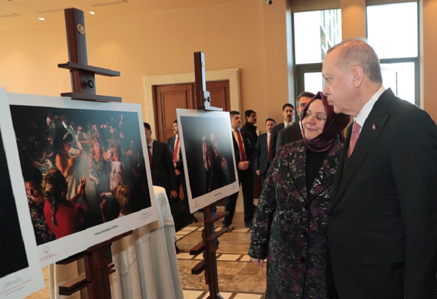
[[417, 2], [368, 6], [366, 17], [368, 42], [378, 54], [384, 87], [418, 104]]

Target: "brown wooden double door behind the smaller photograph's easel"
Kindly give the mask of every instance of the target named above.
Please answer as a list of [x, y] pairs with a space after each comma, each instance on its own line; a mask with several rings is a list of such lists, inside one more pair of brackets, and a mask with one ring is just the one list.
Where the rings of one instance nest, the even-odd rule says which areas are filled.
[[[206, 82], [210, 92], [211, 106], [230, 111], [229, 80]], [[195, 109], [194, 83], [154, 86], [156, 138], [166, 142], [173, 137], [173, 121], [176, 108]]]

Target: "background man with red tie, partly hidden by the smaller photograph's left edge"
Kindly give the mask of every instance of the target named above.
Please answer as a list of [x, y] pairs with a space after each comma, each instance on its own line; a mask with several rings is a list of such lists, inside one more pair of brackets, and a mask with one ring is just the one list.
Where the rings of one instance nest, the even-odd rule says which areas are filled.
[[[177, 120], [173, 122], [173, 133], [174, 136], [167, 139], [167, 145], [170, 150], [170, 157], [173, 160], [174, 172], [176, 174], [176, 191], [177, 196], [179, 196], [180, 186], [182, 186], [182, 191], [184, 192], [183, 200], [188, 204], [188, 193], [187, 193], [187, 184], [185, 182], [185, 173], [184, 173], [184, 162], [182, 160], [182, 151], [180, 150], [180, 140], [179, 140], [179, 127], [177, 126]], [[193, 217], [193, 222], [197, 222], [194, 214], [191, 214]]]

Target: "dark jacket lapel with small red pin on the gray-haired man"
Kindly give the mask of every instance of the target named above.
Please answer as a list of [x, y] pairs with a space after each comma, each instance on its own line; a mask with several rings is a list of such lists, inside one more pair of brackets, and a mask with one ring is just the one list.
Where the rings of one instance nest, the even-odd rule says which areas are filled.
[[[339, 178], [338, 180], [336, 179], [336, 184], [334, 185], [335, 190], [333, 193], [332, 207], [334, 207], [335, 203], [337, 203], [337, 200], [343, 194], [345, 188], [348, 186], [352, 177], [355, 175], [358, 167], [366, 158], [367, 154], [373, 146], [373, 143], [384, 129], [384, 125], [388, 119], [387, 109], [393, 97], [394, 94], [391, 89], [387, 89], [379, 97], [379, 99], [374, 104], [372, 110], [370, 111], [370, 114], [367, 117], [364, 125], [361, 128], [361, 133], [359, 135], [357, 143], [355, 144], [354, 152], [352, 153], [349, 160], [345, 161], [345, 151], [349, 146], [352, 129], [348, 130], [348, 140], [347, 143], [344, 145], [340, 157], [341, 162], [338, 165], [339, 167], [341, 166], [341, 169], [339, 168]], [[344, 163], [346, 163], [346, 167], [344, 167]]]

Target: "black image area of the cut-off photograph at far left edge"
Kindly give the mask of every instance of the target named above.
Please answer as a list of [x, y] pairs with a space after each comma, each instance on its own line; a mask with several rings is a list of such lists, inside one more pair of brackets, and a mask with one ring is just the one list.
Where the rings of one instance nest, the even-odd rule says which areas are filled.
[[28, 267], [3, 145], [3, 138], [0, 134], [0, 165], [2, 165], [0, 172], [0, 240], [2, 240], [0, 277]]

